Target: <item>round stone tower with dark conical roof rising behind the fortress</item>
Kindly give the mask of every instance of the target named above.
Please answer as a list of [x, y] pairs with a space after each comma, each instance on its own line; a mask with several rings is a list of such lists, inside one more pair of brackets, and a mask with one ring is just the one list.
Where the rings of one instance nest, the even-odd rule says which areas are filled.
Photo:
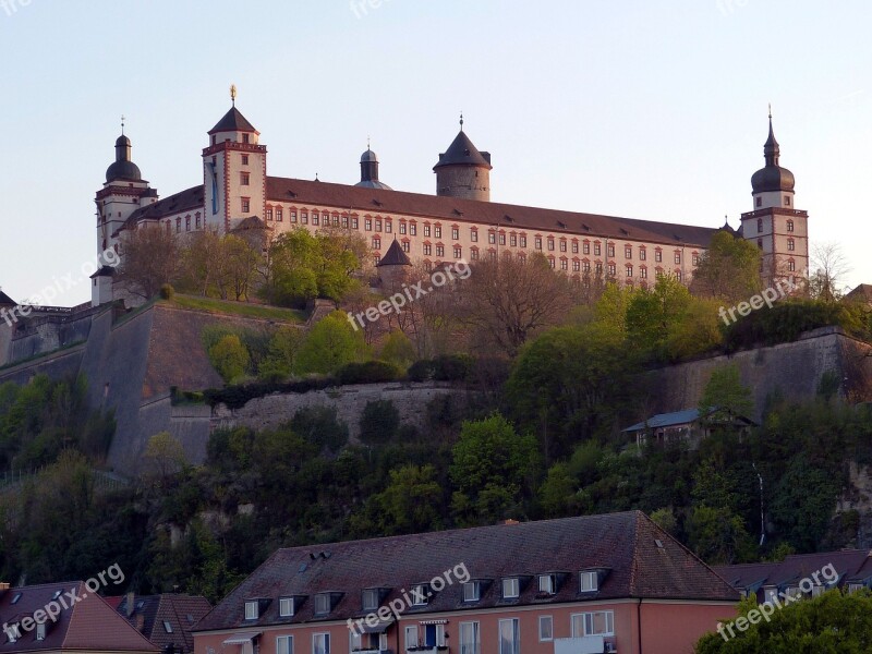
[[436, 195], [489, 202], [492, 169], [491, 153], [479, 152], [472, 144], [463, 131], [461, 113], [460, 132], [433, 167], [436, 173]]

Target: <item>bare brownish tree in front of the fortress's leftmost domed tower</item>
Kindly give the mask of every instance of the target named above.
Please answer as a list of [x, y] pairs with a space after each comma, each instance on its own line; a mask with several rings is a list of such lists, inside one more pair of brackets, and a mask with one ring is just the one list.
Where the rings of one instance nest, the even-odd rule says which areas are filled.
[[160, 227], [125, 230], [122, 261], [116, 279], [128, 292], [148, 300], [179, 275], [179, 245], [174, 234]]

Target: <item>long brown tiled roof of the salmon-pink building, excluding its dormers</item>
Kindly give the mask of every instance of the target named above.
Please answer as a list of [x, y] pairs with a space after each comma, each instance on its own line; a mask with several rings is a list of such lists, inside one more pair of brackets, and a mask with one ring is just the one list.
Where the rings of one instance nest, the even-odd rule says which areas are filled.
[[[313, 596], [326, 592], [340, 593], [341, 598], [324, 619], [356, 618], [365, 613], [361, 610], [363, 589], [390, 589], [384, 604], [461, 564], [472, 579], [494, 582], [483, 591], [480, 602], [463, 605], [462, 589], [453, 583], [426, 607], [407, 610], [407, 615], [505, 605], [499, 580], [513, 576], [533, 578], [521, 591], [520, 605], [638, 597], [691, 602], [739, 598], [737, 591], [678, 541], [640, 511], [631, 511], [279, 549], [195, 631], [314, 621], [320, 618], [314, 614]], [[578, 573], [586, 569], [608, 572], [597, 592], [581, 595]], [[569, 578], [555, 595], [544, 601], [536, 597], [534, 576], [554, 571], [566, 571]], [[279, 618], [278, 597], [291, 595], [306, 600], [293, 618]], [[258, 620], [246, 621], [244, 603], [255, 598], [268, 601], [268, 605]]]

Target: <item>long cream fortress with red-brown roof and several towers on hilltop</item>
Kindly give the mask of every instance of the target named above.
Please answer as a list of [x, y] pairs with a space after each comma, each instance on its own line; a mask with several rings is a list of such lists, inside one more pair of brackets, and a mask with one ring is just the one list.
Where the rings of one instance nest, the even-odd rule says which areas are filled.
[[[123, 130], [122, 130], [123, 131]], [[361, 232], [378, 264], [396, 240], [412, 263], [433, 268], [452, 261], [543, 254], [550, 266], [582, 281], [614, 279], [646, 286], [659, 274], [689, 281], [712, 235], [722, 228], [640, 220], [491, 202], [491, 154], [463, 130], [433, 170], [436, 194], [395, 191], [379, 180], [378, 157], [367, 147], [353, 184], [272, 177], [261, 133], [233, 106], [208, 131], [203, 183], [158, 198], [131, 159], [131, 141], [116, 142], [116, 161], [97, 193], [97, 247], [119, 247], [125, 230], [157, 227], [174, 234], [230, 233], [252, 226], [272, 237], [305, 228]], [[808, 267], [808, 214], [794, 207], [794, 175], [779, 166], [770, 117], [765, 167], [752, 178], [754, 208], [739, 234], [763, 252], [764, 283]], [[123, 256], [123, 247], [121, 249]], [[93, 304], [122, 296], [111, 268], [94, 277]]]

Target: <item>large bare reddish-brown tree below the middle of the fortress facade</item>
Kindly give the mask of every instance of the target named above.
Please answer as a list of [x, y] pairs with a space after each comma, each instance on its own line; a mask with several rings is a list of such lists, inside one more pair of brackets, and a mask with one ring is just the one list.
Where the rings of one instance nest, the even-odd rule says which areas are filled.
[[456, 315], [514, 356], [537, 331], [565, 319], [572, 307], [570, 283], [542, 255], [482, 262], [457, 284]]

